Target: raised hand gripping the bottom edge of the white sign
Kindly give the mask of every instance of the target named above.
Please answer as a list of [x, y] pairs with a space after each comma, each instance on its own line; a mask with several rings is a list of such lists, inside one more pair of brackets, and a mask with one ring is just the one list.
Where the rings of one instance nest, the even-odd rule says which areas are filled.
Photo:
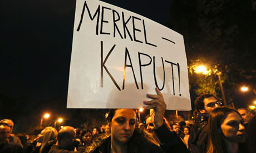
[[153, 100], [144, 101], [144, 104], [149, 105], [144, 106], [144, 108], [150, 109], [150, 116], [155, 124], [155, 127], [158, 128], [164, 124], [163, 117], [166, 109], [166, 104], [164, 102], [164, 97], [161, 94], [161, 91], [158, 88], [155, 89], [157, 95], [147, 94], [147, 97]]

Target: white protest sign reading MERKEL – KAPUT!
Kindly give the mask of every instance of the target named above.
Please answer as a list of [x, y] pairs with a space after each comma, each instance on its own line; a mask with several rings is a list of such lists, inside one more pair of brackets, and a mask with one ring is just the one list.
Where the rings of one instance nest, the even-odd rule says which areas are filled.
[[101, 1], [77, 0], [67, 108], [142, 108], [161, 90], [191, 110], [183, 36]]

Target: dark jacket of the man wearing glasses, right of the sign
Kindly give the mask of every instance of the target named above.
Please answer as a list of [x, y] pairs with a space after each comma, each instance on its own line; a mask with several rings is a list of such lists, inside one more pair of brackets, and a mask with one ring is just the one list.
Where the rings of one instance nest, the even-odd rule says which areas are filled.
[[189, 147], [193, 153], [206, 152], [208, 141], [208, 115], [198, 113], [189, 135]]

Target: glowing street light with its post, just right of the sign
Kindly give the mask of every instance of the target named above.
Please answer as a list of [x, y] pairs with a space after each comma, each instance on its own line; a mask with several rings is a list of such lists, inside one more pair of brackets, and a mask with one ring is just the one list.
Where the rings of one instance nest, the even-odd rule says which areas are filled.
[[[194, 71], [195, 71], [195, 73], [201, 73], [201, 74], [204, 74], [204, 75], [211, 75], [211, 70], [207, 70], [207, 68], [204, 65], [200, 65], [198, 67], [195, 67]], [[220, 78], [221, 72], [219, 72], [217, 69], [215, 69], [213, 72], [214, 72], [214, 74], [216, 74], [218, 76], [220, 89], [221, 89], [221, 94], [223, 96], [224, 105], [227, 106], [227, 100], [226, 100], [226, 96], [225, 96], [225, 93], [224, 93], [222, 80]]]

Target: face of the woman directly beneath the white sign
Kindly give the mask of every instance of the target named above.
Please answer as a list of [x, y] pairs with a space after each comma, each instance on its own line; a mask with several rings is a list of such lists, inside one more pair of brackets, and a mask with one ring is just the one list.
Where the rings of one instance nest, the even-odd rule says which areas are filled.
[[111, 136], [114, 141], [126, 144], [134, 133], [136, 113], [133, 109], [117, 109], [111, 121]]

